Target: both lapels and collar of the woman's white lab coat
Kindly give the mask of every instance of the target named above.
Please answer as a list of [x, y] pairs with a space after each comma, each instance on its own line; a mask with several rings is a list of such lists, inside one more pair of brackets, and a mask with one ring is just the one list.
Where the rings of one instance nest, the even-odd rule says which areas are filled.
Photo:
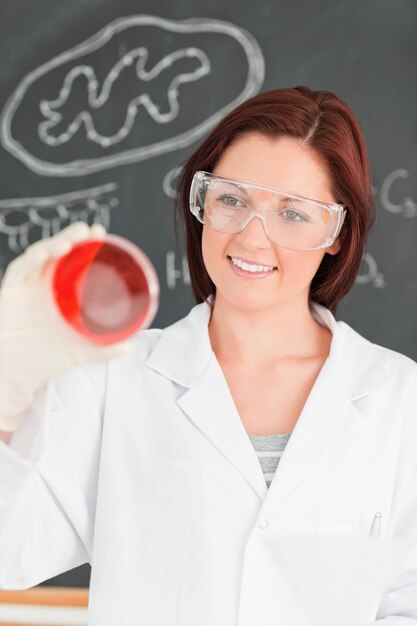
[[268, 491], [258, 458], [237, 412], [208, 334], [210, 302], [165, 329], [147, 366], [184, 387], [177, 405], [234, 466], [263, 502], [275, 508], [364, 423], [356, 401], [390, 384], [387, 365], [373, 344], [347, 324], [312, 305], [319, 323], [333, 333], [331, 349], [282, 456]]

